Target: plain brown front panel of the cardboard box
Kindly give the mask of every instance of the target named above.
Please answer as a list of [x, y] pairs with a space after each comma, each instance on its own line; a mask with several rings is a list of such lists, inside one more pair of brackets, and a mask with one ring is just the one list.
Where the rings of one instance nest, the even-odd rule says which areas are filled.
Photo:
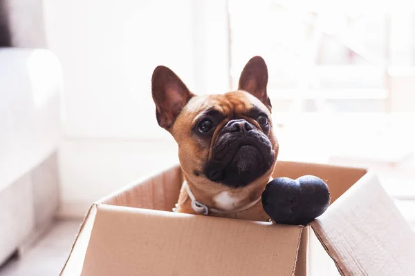
[[293, 275], [302, 230], [101, 204], [82, 275]]

